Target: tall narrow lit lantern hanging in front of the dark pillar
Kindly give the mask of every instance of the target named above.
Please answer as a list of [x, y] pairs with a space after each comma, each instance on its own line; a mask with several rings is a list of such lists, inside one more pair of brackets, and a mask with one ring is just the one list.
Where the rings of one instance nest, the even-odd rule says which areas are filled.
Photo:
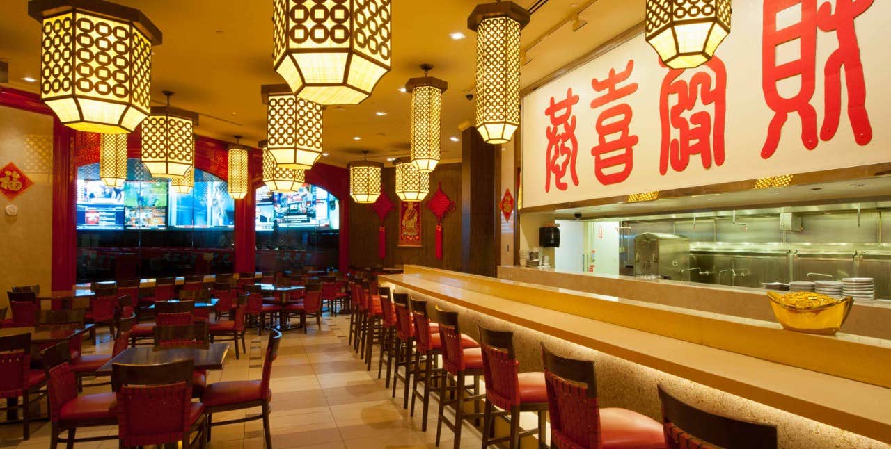
[[529, 12], [513, 2], [478, 4], [467, 18], [477, 32], [477, 130], [486, 143], [511, 140], [519, 126], [519, 30]]

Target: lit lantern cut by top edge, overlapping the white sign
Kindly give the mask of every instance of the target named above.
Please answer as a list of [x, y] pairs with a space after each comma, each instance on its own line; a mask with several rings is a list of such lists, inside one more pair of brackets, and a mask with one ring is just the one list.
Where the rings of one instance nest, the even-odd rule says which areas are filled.
[[730, 34], [731, 0], [647, 0], [646, 39], [670, 68], [712, 59]]

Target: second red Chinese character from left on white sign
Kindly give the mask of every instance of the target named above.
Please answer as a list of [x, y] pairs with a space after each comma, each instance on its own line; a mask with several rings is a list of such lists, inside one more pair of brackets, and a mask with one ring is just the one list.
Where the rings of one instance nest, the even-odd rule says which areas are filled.
[[[592, 79], [591, 85], [594, 91], [606, 92], [591, 101], [591, 108], [599, 108], [637, 92], [637, 83], [618, 87], [619, 83], [631, 76], [632, 70], [634, 70], [634, 60], [629, 60], [621, 73], [616, 73], [615, 68], [610, 68], [609, 76], [603, 81]], [[628, 103], [619, 103], [603, 109], [600, 116], [597, 116], [595, 129], [599, 145], [591, 148], [591, 154], [594, 156], [594, 175], [601, 184], [616, 184], [626, 180], [631, 174], [634, 167], [634, 145], [637, 145], [637, 136], [631, 134], [628, 129], [631, 117], [632, 110]], [[618, 171], [607, 172], [606, 169], [614, 167], [620, 168]]]

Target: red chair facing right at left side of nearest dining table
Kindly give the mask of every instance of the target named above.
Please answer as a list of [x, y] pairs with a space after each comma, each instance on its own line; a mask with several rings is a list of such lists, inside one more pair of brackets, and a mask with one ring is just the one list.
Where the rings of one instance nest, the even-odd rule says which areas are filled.
[[[41, 358], [46, 369], [46, 391], [52, 422], [50, 449], [56, 449], [60, 441], [70, 447], [74, 443], [116, 439], [115, 436], [75, 437], [78, 428], [118, 424], [115, 410], [118, 399], [115, 394], [108, 392], [78, 396], [78, 376], [71, 368], [68, 345], [64, 341], [44, 349]], [[68, 437], [60, 438], [61, 432], [66, 430]]]

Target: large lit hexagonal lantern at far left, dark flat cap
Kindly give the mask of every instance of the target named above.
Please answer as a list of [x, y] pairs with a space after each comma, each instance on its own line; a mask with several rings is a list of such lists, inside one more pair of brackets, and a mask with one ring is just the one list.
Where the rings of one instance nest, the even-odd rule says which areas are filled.
[[150, 112], [151, 45], [137, 9], [95, 0], [33, 0], [41, 22], [40, 98], [78, 131], [132, 132]]

